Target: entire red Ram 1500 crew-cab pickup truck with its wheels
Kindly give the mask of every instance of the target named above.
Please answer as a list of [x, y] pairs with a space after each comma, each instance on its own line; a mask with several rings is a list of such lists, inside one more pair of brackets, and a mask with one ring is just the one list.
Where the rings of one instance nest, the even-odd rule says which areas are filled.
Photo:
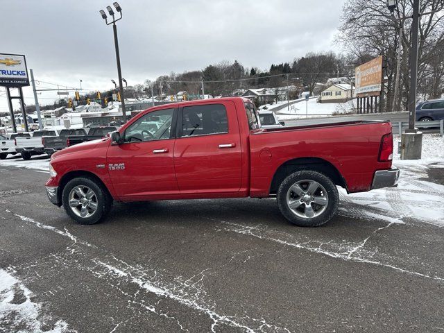
[[292, 223], [318, 226], [348, 193], [393, 187], [386, 121], [261, 128], [248, 99], [150, 108], [104, 139], [51, 158], [46, 191], [78, 223], [103, 219], [114, 200], [276, 197]]

